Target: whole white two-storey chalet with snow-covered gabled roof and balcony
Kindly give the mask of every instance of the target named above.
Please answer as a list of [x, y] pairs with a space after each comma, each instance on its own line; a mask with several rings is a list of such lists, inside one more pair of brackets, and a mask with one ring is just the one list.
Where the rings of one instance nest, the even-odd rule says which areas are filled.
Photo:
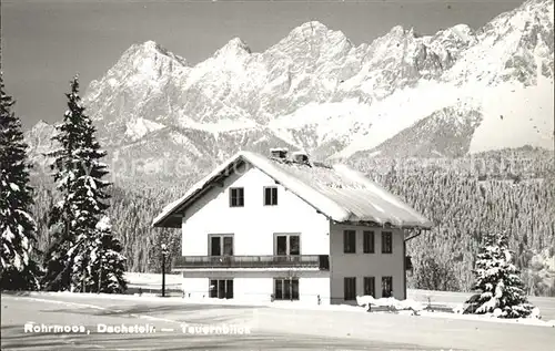
[[406, 299], [405, 241], [431, 221], [362, 173], [287, 154], [240, 152], [154, 218], [182, 230], [184, 296]]

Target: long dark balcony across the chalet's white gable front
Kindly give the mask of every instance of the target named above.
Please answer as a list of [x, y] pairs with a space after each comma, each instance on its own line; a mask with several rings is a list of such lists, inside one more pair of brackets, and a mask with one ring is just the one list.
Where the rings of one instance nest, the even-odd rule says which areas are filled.
[[233, 268], [312, 268], [330, 270], [327, 255], [295, 255], [295, 256], [181, 256], [173, 260], [172, 268], [195, 269], [233, 269]]

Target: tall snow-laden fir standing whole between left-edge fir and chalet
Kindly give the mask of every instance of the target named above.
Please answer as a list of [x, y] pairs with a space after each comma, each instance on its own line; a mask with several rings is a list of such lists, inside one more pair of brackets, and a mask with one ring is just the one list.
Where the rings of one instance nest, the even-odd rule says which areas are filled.
[[47, 290], [122, 292], [125, 258], [108, 226], [105, 153], [95, 140], [95, 128], [84, 113], [79, 81], [71, 93], [63, 122], [53, 137], [60, 148], [52, 152], [52, 169], [61, 200], [50, 214], [53, 240], [46, 255]]

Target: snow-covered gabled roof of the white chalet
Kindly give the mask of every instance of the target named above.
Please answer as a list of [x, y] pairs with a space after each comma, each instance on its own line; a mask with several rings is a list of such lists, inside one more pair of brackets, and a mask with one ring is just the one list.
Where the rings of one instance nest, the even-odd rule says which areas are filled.
[[[239, 164], [253, 166], [336, 223], [430, 229], [432, 223], [382, 186], [345, 165], [304, 165], [239, 152], [164, 207], [154, 227], [180, 227], [179, 214]], [[178, 215], [178, 216], [175, 216]]]

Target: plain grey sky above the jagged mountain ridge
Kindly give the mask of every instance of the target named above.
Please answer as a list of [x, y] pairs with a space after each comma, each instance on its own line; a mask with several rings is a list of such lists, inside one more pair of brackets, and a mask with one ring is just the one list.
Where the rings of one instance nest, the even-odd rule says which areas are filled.
[[153, 40], [194, 64], [234, 37], [254, 52], [264, 51], [310, 20], [361, 44], [396, 24], [424, 34], [458, 23], [477, 29], [521, 2], [2, 0], [1, 63], [16, 112], [30, 127], [62, 117], [63, 93], [74, 73], [84, 92], [133, 43]]

